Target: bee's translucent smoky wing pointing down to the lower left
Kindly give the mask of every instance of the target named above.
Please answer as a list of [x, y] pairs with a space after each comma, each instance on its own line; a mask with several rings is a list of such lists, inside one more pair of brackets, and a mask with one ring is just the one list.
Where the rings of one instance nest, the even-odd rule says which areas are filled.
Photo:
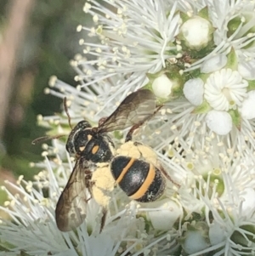
[[[86, 170], [91, 164], [80, 158], [77, 160], [65, 189], [59, 197], [55, 209], [56, 223], [61, 231], [70, 231], [82, 224], [86, 217], [88, 192], [86, 191]], [[88, 172], [87, 172], [88, 175]], [[89, 187], [88, 187], [89, 191]]]

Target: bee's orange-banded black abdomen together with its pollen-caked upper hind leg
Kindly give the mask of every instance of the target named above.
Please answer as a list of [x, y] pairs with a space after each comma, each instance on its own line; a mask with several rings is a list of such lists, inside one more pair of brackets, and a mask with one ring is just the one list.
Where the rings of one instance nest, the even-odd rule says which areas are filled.
[[167, 174], [158, 161], [155, 151], [148, 145], [133, 141], [134, 125], [127, 133], [126, 142], [116, 151], [111, 161], [111, 174], [116, 185], [131, 200], [137, 202], [154, 202], [162, 196], [166, 189], [166, 179], [179, 185]]

